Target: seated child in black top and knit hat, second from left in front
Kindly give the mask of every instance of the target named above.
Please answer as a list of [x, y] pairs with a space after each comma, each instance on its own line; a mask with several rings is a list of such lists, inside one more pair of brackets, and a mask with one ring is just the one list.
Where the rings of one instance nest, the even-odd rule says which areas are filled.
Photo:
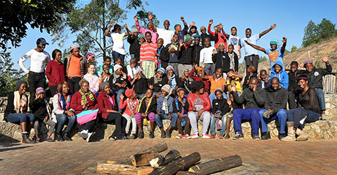
[[[46, 141], [54, 141], [51, 139], [51, 134], [54, 133], [56, 123], [51, 118], [51, 106], [46, 100], [46, 94], [44, 88], [39, 87], [36, 90], [35, 99], [30, 102], [29, 108], [33, 111], [34, 116], [37, 120], [34, 122], [34, 132], [35, 137], [37, 137], [36, 142], [39, 142], [39, 123], [44, 123], [49, 125], [49, 131], [47, 134]], [[56, 120], [56, 118], [55, 118]]]

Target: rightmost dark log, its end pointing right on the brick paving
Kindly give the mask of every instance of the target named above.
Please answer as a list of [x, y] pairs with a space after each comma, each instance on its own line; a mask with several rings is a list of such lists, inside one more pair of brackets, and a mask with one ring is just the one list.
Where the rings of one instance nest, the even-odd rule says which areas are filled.
[[227, 158], [220, 158], [211, 160], [209, 162], [204, 162], [199, 165], [194, 165], [190, 167], [188, 172], [194, 172], [197, 174], [212, 174], [216, 172], [221, 172], [234, 167], [239, 167], [242, 165], [242, 159], [239, 155], [232, 155]]

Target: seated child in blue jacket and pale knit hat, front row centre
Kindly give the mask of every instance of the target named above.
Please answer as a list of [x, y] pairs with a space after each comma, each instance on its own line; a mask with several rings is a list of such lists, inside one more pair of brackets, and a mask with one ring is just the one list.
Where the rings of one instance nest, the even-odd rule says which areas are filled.
[[[173, 98], [169, 96], [170, 85], [161, 87], [161, 96], [157, 99], [156, 123], [161, 131], [161, 139], [171, 138], [173, 127], [176, 126], [178, 114], [173, 113]], [[164, 131], [162, 120], [171, 120], [170, 126]]]

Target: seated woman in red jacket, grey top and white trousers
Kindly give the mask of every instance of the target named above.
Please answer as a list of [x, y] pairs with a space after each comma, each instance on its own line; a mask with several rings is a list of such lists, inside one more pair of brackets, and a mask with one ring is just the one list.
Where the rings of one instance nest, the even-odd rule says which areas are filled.
[[209, 94], [204, 93], [205, 85], [202, 81], [193, 81], [191, 85], [192, 94], [188, 94], [187, 102], [190, 104], [188, 109], [188, 118], [192, 127], [193, 134], [192, 139], [199, 138], [198, 132], [198, 120], [203, 122], [202, 124], [202, 139], [209, 139], [207, 130], [209, 129], [209, 123], [211, 122], [211, 101], [209, 100]]

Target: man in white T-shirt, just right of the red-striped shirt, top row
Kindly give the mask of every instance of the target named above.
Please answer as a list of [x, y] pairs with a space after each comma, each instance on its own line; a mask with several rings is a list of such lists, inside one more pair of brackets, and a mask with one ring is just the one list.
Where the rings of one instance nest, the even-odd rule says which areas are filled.
[[157, 31], [158, 34], [158, 38], [162, 38], [164, 40], [164, 44], [163, 45], [168, 45], [169, 43], [171, 43], [171, 40], [173, 38], [174, 35], [174, 31], [170, 30], [170, 22], [169, 20], [165, 20], [164, 21], [164, 29], [159, 29], [157, 27], [154, 27], [153, 22], [152, 22], [152, 15], [149, 15], [150, 18], [150, 25], [152, 27], [152, 29], [154, 29], [154, 31]]

